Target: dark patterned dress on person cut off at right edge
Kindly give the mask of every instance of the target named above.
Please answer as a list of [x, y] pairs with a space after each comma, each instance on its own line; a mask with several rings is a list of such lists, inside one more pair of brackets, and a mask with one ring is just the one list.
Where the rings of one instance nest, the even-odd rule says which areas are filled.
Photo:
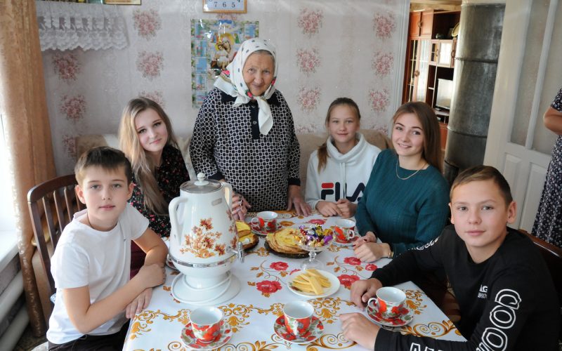
[[[554, 110], [562, 112], [562, 89], [552, 102]], [[535, 237], [562, 247], [562, 135], [552, 148], [547, 179], [539, 202], [539, 211], [532, 226]]]

